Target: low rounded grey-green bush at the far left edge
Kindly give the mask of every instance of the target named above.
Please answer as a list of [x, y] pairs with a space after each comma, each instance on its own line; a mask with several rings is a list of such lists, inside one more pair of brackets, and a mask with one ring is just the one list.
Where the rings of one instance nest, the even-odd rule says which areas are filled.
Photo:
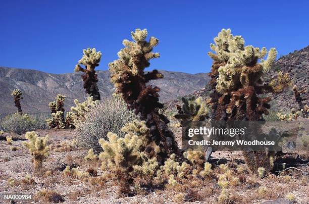
[[19, 135], [36, 129], [46, 129], [41, 117], [31, 117], [28, 114], [21, 115], [17, 113], [3, 118], [0, 126], [5, 132], [13, 132]]

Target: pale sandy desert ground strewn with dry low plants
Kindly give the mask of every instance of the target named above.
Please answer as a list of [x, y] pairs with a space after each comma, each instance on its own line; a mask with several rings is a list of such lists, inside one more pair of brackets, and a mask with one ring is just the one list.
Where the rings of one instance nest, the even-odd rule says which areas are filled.
[[[87, 149], [74, 144], [73, 131], [39, 130], [37, 132], [40, 136], [48, 134], [48, 143], [56, 148], [50, 151], [50, 155], [43, 162], [40, 175], [33, 173], [32, 157], [28, 149], [21, 145], [23, 136], [10, 133], [3, 135], [3, 138], [12, 136], [13, 142], [12, 145], [8, 145], [5, 139], [0, 141], [2, 194], [28, 193], [33, 196], [29, 201], [1, 200], [1, 203], [218, 203], [221, 189], [216, 180], [203, 180], [198, 177], [196, 178], [198, 184], [196, 182], [192, 184], [192, 182], [178, 187], [140, 187], [133, 189], [135, 193], [132, 195], [119, 196], [115, 183], [101, 176], [104, 171], [99, 168], [100, 162], [84, 160]], [[181, 131], [178, 131], [176, 138], [180, 142]], [[12, 150], [12, 146], [19, 149]], [[235, 170], [235, 174], [240, 178], [240, 184], [230, 188], [230, 203], [308, 203], [308, 164], [296, 155], [283, 158], [285, 159], [282, 159], [282, 163], [295, 168], [272, 173], [266, 178], [249, 174], [239, 151], [215, 152], [210, 163], [215, 165], [226, 163], [233, 171], [237, 167], [244, 168], [241, 173]], [[63, 171], [68, 165], [83, 171], [92, 168], [97, 171], [97, 174], [87, 178], [66, 176]], [[48, 190], [49, 194], [40, 193], [44, 192], [44, 189]], [[294, 195], [293, 201], [286, 199], [290, 193]]]

